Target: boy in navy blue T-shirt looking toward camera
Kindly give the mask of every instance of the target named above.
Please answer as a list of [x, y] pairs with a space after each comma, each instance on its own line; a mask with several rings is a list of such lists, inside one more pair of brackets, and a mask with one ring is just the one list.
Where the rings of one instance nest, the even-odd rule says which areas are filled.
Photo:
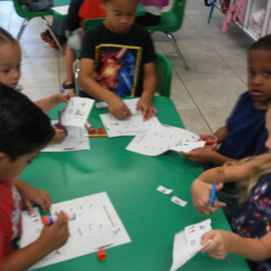
[[[188, 159], [209, 162], [208, 168], [266, 152], [264, 114], [271, 98], [271, 35], [256, 41], [248, 51], [248, 89], [241, 95], [227, 126], [215, 132], [217, 143], [221, 143], [218, 151], [203, 147], [182, 153]], [[217, 195], [227, 202], [224, 211], [230, 220], [237, 205], [234, 183], [224, 185]]]

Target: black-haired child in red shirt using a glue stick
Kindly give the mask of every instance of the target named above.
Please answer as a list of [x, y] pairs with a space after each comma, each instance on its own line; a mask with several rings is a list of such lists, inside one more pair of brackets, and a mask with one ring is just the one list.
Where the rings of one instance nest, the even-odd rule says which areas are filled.
[[[37, 241], [18, 249], [22, 235], [22, 204], [31, 211], [31, 202], [43, 211], [50, 195], [17, 179], [25, 167], [52, 139], [50, 119], [29, 99], [0, 85], [0, 270], [26, 270], [63, 246], [68, 237], [65, 214], [43, 227]], [[18, 250], [17, 250], [18, 249]]]

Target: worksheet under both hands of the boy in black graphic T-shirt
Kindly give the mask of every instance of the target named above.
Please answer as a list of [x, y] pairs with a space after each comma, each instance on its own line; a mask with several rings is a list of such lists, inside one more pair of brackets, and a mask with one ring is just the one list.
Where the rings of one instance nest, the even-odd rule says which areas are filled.
[[141, 131], [147, 131], [153, 126], [160, 126], [156, 116], [143, 121], [143, 113], [141, 111], [126, 119], [115, 118], [111, 113], [102, 114], [100, 117], [109, 138], [136, 136]]

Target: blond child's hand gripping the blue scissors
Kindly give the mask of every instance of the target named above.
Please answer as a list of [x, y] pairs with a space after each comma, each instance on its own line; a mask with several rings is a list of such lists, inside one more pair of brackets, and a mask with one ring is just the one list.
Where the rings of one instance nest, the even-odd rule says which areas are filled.
[[[191, 185], [192, 201], [194, 207], [199, 214], [210, 215], [217, 211], [220, 207], [225, 207], [225, 203], [214, 202], [214, 207], [209, 206], [209, 197], [211, 193], [211, 183], [206, 183], [201, 179], [196, 179]], [[216, 191], [223, 188], [223, 183], [219, 183], [216, 186]]]

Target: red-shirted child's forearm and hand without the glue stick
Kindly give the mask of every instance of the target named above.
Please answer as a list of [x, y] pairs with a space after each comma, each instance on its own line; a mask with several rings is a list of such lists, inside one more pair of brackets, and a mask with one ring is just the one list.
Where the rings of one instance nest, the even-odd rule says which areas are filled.
[[47, 191], [36, 189], [17, 178], [14, 179], [14, 184], [16, 185], [22, 196], [23, 203], [25, 204], [25, 207], [29, 214], [33, 211], [31, 203], [38, 204], [43, 211], [50, 210], [52, 201], [50, 194]]

